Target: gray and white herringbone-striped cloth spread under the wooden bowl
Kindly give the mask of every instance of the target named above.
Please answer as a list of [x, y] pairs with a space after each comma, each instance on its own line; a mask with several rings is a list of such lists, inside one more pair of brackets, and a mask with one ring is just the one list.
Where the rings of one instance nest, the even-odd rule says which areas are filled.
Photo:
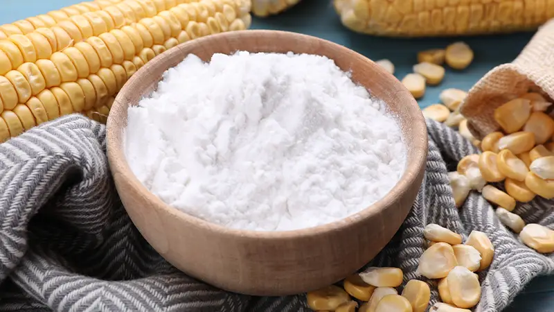
[[[400, 267], [404, 281], [421, 279], [415, 269], [426, 224], [465, 237], [483, 231], [496, 253], [481, 272], [476, 311], [501, 311], [530, 279], [553, 272], [554, 256], [520, 243], [479, 193], [454, 207], [447, 171], [477, 150], [439, 123], [427, 126], [429, 157], [418, 198], [371, 265]], [[105, 126], [77, 114], [0, 144], [0, 311], [309, 311], [304, 295], [226, 293], [170, 266], [125, 214], [105, 150]], [[552, 204], [537, 199], [516, 212], [553, 227]], [[436, 301], [436, 284], [429, 284]]]

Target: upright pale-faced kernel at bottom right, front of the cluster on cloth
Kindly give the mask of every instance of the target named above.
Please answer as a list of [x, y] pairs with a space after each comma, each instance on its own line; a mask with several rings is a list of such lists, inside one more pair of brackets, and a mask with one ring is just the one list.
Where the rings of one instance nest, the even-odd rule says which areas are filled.
[[452, 302], [459, 308], [472, 308], [481, 299], [481, 285], [476, 275], [463, 266], [456, 266], [447, 276]]

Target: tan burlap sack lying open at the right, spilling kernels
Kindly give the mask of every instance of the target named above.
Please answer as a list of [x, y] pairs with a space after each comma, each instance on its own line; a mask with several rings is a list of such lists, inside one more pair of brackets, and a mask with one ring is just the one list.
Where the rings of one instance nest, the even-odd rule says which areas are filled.
[[499, 129], [494, 109], [528, 89], [554, 98], [554, 19], [539, 28], [513, 62], [495, 67], [470, 89], [460, 112], [474, 137]]

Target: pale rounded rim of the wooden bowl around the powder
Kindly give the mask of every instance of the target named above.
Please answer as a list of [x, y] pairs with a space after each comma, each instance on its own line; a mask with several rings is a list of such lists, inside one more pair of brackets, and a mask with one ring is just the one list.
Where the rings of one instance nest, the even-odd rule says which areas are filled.
[[[280, 35], [280, 36], [286, 36], [291, 39], [296, 38], [303, 39], [303, 40], [315, 40], [319, 42], [319, 44], [327, 45], [327, 46], [333, 46], [334, 49], [338, 49], [341, 51], [341, 53], [349, 54], [349, 58], [352, 56], [358, 55], [359, 58], [364, 58], [366, 62], [373, 62], [373, 60], [370, 60], [364, 55], [361, 55], [360, 53], [357, 53], [356, 51], [353, 51], [352, 49], [349, 49], [346, 46], [342, 46], [341, 44], [337, 44], [334, 42], [331, 42], [329, 40], [325, 40], [319, 37], [314, 37], [312, 35], [305, 35], [301, 33], [294, 33], [289, 31], [274, 31], [274, 30], [245, 30], [245, 31], [232, 31], [232, 32], [226, 32], [226, 33], [219, 33], [214, 35], [208, 35], [206, 37], [200, 37], [195, 40], [190, 40], [188, 42], [184, 42], [183, 44], [179, 44], [179, 46], [175, 46], [172, 49], [169, 49], [168, 51], [161, 53], [160, 55], [157, 55], [154, 59], [152, 59], [150, 62], [146, 63], [139, 71], [136, 71], [134, 75], [129, 78], [127, 83], [123, 86], [123, 88], [120, 90], [118, 95], [116, 96], [116, 99], [111, 107], [111, 110], [126, 110], [129, 107], [129, 103], [127, 103], [126, 99], [122, 94], [125, 94], [125, 89], [129, 88], [130, 84], [129, 82], [132, 82], [134, 80], [141, 79], [141, 76], [148, 74], [149, 71], [151, 71], [155, 67], [163, 67], [162, 62], [154, 62], [154, 60], [162, 59], [168, 57], [170, 55], [169, 53], [177, 53], [176, 49], [183, 49], [187, 46], [202, 46], [202, 44], [205, 44], [206, 42], [213, 42], [217, 40], [226, 40], [226, 38], [229, 37], [244, 37], [244, 36], [258, 36], [258, 35], [268, 35], [268, 34], [274, 34], [274, 35]], [[245, 51], [245, 50], [241, 50]], [[294, 51], [292, 51], [294, 52]], [[186, 57], [186, 55], [185, 55]], [[162, 64], [162, 65], [160, 65]], [[169, 67], [172, 68], [172, 67]], [[169, 69], [168, 68], [168, 69]], [[392, 76], [394, 79], [394, 83], [397, 84], [398, 89], [402, 89], [402, 92], [406, 92], [409, 94], [409, 91], [400, 83], [397, 78], [395, 78], [391, 73], [388, 73], [379, 65], [375, 64], [374, 69], [376, 71], [380, 71], [383, 75], [389, 75]], [[166, 69], [167, 71], [167, 69]], [[164, 71], [165, 72], [165, 71]], [[353, 80], [355, 83], [357, 83], [355, 80]], [[366, 87], [364, 87], [366, 88]], [[367, 89], [367, 88], [366, 88]], [[368, 90], [369, 91], [369, 90]], [[371, 93], [370, 93], [371, 94]], [[411, 96], [411, 94], [409, 94]], [[411, 184], [415, 183], [418, 180], [418, 173], [421, 171], [422, 167], [425, 166], [425, 162], [427, 160], [427, 125], [425, 123], [425, 119], [422, 115], [422, 112], [420, 110], [420, 107], [418, 106], [417, 102], [411, 96], [411, 101], [406, 101], [405, 108], [409, 111], [409, 114], [413, 116], [413, 123], [409, 125], [409, 128], [411, 131], [420, 133], [420, 138], [418, 140], [413, 140], [415, 142], [412, 142], [411, 148], [409, 148], [410, 144], [404, 141], [405, 147], [406, 147], [406, 165], [404, 167], [404, 172], [400, 176], [400, 179], [398, 182], [394, 185], [394, 187], [386, 193], [386, 195], [377, 202], [374, 202], [372, 205], [368, 205], [368, 207], [361, 209], [360, 211], [357, 211], [355, 214], [351, 214], [349, 216], [346, 216], [345, 218], [341, 218], [339, 220], [334, 220], [331, 223], [325, 223], [323, 225], [317, 225], [315, 227], [306, 227], [301, 229], [292, 229], [292, 230], [286, 230], [286, 231], [256, 231], [251, 229], [235, 229], [231, 227], [225, 227], [224, 225], [219, 225], [217, 223], [211, 223], [210, 221], [203, 220], [201, 218], [198, 218], [196, 216], [190, 215], [181, 209], [178, 209], [176, 207], [172, 207], [168, 205], [166, 202], [163, 202], [158, 196], [155, 196], [154, 193], [152, 193], [150, 190], [148, 190], [136, 177], [136, 175], [132, 172], [131, 168], [129, 167], [129, 164], [127, 162], [127, 159], [125, 157], [125, 153], [123, 152], [122, 146], [114, 146], [115, 144], [115, 137], [120, 136], [123, 141], [123, 130], [125, 128], [120, 129], [120, 134], [117, 134], [118, 129], [116, 128], [116, 122], [114, 121], [114, 114], [109, 114], [107, 119], [107, 157], [109, 160], [109, 164], [119, 164], [118, 171], [120, 177], [127, 180], [130, 187], [134, 188], [134, 191], [137, 193], [142, 194], [145, 198], [147, 198], [150, 203], [148, 206], [155, 206], [159, 209], [162, 209], [165, 214], [168, 214], [170, 216], [174, 216], [175, 218], [179, 218], [184, 221], [184, 223], [191, 223], [195, 226], [204, 229], [206, 231], [216, 232], [217, 234], [227, 235], [227, 236], [234, 236], [236, 239], [267, 239], [267, 240], [280, 240], [280, 239], [291, 239], [291, 238], [308, 238], [313, 236], [319, 236], [323, 233], [333, 232], [333, 231], [339, 231], [345, 227], [350, 227], [352, 225], [361, 225], [363, 221], [367, 218], [372, 218], [375, 215], [379, 215], [386, 209], [386, 207], [393, 206], [393, 202], [397, 199], [396, 196], [399, 193], [402, 193], [403, 191], [409, 189], [411, 187]], [[402, 127], [402, 125], [400, 125]], [[412, 157], [412, 162], [408, 162], [409, 155]], [[113, 166], [112, 166], [113, 168]], [[112, 169], [113, 170], [113, 169]], [[115, 182], [117, 184], [117, 182]], [[116, 185], [117, 186], [117, 185]], [[418, 187], [419, 189], [419, 187]], [[123, 205], [125, 207], [125, 205]], [[150, 207], [154, 208], [154, 207]], [[127, 207], [125, 207], [125, 210], [127, 210]]]

